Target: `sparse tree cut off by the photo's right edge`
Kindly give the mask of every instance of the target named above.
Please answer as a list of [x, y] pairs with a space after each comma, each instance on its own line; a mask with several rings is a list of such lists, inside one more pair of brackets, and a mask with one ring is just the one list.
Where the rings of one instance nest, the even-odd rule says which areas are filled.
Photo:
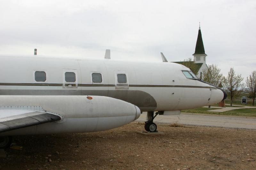
[[256, 71], [252, 71], [252, 74], [250, 74], [249, 78], [246, 78], [245, 82], [248, 87], [247, 91], [252, 97], [252, 106], [254, 106], [254, 100], [256, 97]]

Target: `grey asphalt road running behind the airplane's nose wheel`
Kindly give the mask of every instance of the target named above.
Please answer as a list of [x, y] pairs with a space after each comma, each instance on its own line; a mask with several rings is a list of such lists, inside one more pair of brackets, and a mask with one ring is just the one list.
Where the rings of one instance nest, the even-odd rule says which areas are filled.
[[[136, 121], [145, 122], [147, 112], [143, 112]], [[224, 128], [256, 129], [256, 118], [243, 116], [205, 115], [181, 113], [180, 115], [157, 115], [154, 122], [180, 123], [183, 125], [213, 126]]]

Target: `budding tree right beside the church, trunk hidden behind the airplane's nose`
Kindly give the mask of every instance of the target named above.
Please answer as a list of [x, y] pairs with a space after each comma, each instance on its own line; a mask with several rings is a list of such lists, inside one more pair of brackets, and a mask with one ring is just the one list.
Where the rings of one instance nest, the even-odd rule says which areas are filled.
[[203, 70], [203, 81], [219, 86], [223, 80], [224, 77], [220, 74], [220, 68], [217, 64], [209, 65], [208, 69]]

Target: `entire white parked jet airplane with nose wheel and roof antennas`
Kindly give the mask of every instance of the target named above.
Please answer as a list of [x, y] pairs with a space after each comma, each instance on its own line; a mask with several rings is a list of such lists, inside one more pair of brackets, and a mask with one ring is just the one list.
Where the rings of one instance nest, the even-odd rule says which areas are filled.
[[[212, 105], [227, 97], [187, 67], [167, 62], [0, 57], [0, 147], [14, 135], [95, 132], [116, 128], [147, 112], [156, 115]], [[154, 114], [154, 112], [156, 113]]]

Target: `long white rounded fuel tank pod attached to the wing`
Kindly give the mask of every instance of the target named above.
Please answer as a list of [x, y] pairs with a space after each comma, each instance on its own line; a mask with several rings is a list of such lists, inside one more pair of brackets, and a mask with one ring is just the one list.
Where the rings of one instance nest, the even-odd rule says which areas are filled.
[[60, 121], [3, 132], [1, 136], [103, 131], [140, 117], [137, 106], [106, 96], [0, 96], [0, 106], [41, 106], [61, 116]]

